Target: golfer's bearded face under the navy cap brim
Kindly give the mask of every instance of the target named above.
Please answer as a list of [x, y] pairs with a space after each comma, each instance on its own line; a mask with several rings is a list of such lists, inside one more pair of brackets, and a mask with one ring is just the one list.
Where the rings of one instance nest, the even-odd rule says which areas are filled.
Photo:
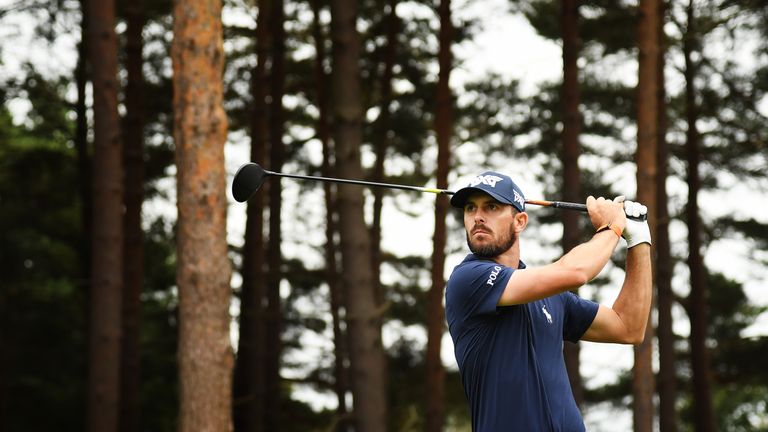
[[517, 241], [514, 230], [515, 210], [490, 195], [476, 192], [464, 204], [464, 228], [467, 245], [475, 255], [493, 258], [511, 248]]

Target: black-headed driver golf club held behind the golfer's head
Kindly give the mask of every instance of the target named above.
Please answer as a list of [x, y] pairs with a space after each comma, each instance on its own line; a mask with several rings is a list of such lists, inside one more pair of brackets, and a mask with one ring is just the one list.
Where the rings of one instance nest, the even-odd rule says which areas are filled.
[[[346, 183], [346, 184], [354, 184], [354, 185], [361, 185], [361, 186], [374, 186], [374, 187], [383, 187], [383, 188], [389, 188], [389, 189], [402, 189], [402, 190], [409, 190], [409, 191], [415, 191], [415, 192], [426, 192], [426, 193], [433, 193], [433, 194], [443, 194], [443, 195], [453, 195], [454, 192], [447, 190], [447, 189], [436, 189], [436, 188], [425, 188], [425, 187], [419, 187], [419, 186], [408, 186], [408, 185], [399, 185], [399, 184], [391, 184], [391, 183], [378, 183], [378, 182], [369, 182], [364, 180], [349, 180], [349, 179], [339, 179], [339, 178], [331, 178], [331, 177], [318, 177], [318, 176], [308, 176], [308, 175], [300, 175], [300, 174], [286, 174], [286, 173], [279, 173], [275, 171], [268, 171], [259, 166], [255, 163], [246, 163], [243, 166], [241, 166], [237, 172], [235, 173], [235, 178], [232, 180], [232, 195], [235, 197], [235, 201], [237, 202], [245, 202], [248, 201], [248, 199], [253, 196], [256, 191], [259, 190], [261, 185], [264, 183], [264, 180], [266, 180], [267, 177], [290, 177], [290, 178], [297, 178], [302, 180], [317, 180], [317, 181], [324, 181], [324, 182], [332, 182], [332, 183]], [[554, 207], [558, 209], [564, 209], [564, 210], [577, 210], [586, 212], [587, 206], [585, 204], [579, 204], [579, 203], [571, 203], [571, 202], [563, 202], [563, 201], [544, 201], [544, 200], [525, 200], [526, 204], [531, 205], [538, 205], [538, 206], [544, 206], [544, 207]], [[645, 220], [645, 216], [642, 218], [632, 218], [631, 219], [638, 219], [638, 220]]]

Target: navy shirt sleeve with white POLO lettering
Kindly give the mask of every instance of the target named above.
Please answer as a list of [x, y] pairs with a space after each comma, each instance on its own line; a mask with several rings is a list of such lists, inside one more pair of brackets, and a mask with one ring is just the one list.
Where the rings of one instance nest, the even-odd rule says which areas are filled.
[[472, 261], [454, 270], [446, 287], [446, 308], [457, 318], [496, 313], [504, 288], [514, 269], [492, 261]]

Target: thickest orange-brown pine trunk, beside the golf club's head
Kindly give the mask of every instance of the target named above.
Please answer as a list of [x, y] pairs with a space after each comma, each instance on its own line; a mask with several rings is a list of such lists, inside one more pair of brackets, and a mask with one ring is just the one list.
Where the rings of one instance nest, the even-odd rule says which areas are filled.
[[179, 430], [232, 429], [220, 0], [173, 8], [179, 287]]

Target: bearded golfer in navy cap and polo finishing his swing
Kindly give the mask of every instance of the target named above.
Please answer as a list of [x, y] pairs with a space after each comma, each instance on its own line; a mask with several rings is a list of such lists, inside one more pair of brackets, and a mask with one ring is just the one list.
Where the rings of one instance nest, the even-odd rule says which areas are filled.
[[[506, 175], [488, 171], [458, 190], [472, 252], [456, 266], [445, 292], [472, 430], [584, 431], [563, 360], [563, 341], [638, 344], [651, 305], [651, 236], [645, 206], [619, 197], [589, 197], [592, 237], [556, 262], [526, 267], [520, 242], [528, 224], [525, 198]], [[626, 275], [612, 307], [570, 290], [605, 267], [621, 237]]]

